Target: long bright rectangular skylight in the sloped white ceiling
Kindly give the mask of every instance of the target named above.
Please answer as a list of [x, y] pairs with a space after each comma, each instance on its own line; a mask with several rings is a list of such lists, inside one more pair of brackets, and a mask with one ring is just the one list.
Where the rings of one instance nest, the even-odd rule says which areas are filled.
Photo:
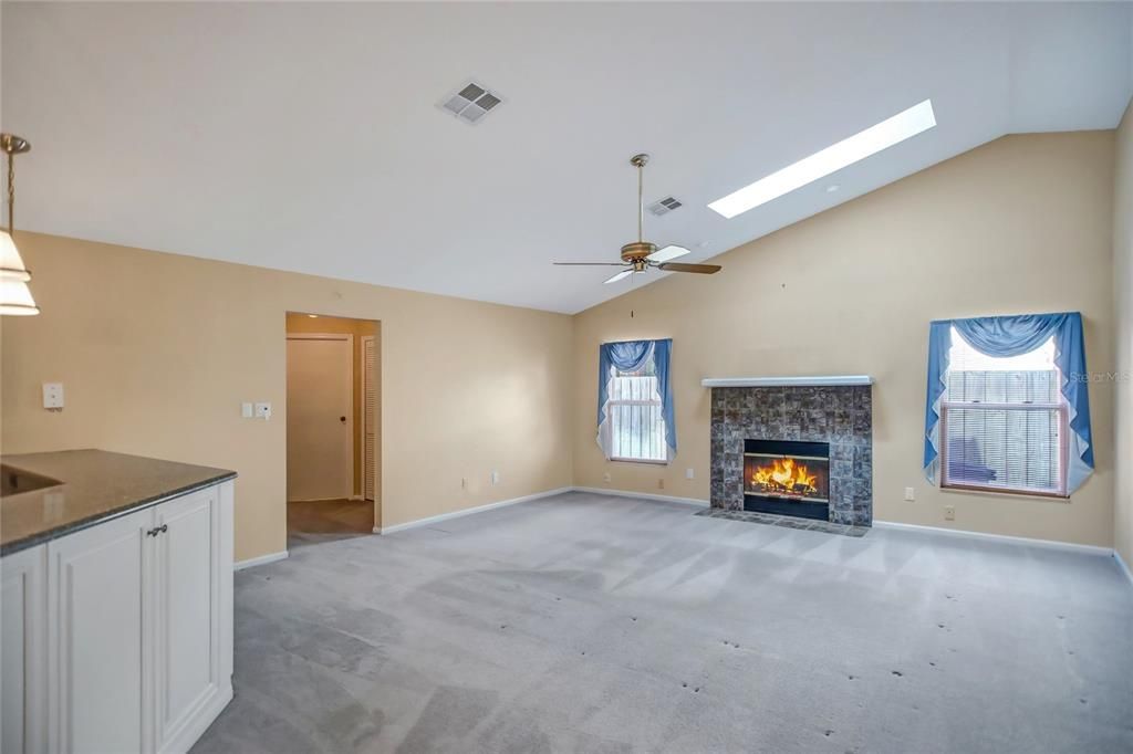
[[755, 183], [716, 199], [708, 205], [708, 208], [731, 220], [935, 126], [932, 101], [925, 100], [893, 118], [870, 126], [821, 152], [816, 152], [783, 170], [760, 178]]

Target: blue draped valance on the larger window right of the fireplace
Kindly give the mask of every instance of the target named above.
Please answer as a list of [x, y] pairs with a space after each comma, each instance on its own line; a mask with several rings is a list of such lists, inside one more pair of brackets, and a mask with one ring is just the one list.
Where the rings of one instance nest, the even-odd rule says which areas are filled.
[[977, 351], [991, 357], [1015, 357], [1055, 340], [1055, 365], [1060, 374], [1060, 393], [1070, 410], [1070, 469], [1066, 491], [1073, 492], [1093, 473], [1090, 434], [1089, 372], [1082, 315], [1063, 311], [1045, 315], [939, 319], [929, 324], [928, 391], [925, 406], [925, 473], [939, 477], [940, 403], [945, 400], [952, 329]]

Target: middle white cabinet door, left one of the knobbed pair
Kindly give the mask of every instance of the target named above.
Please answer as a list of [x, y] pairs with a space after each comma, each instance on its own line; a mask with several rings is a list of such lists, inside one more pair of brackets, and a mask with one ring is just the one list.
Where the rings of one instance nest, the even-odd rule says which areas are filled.
[[48, 543], [52, 752], [148, 748], [153, 519], [146, 508]]

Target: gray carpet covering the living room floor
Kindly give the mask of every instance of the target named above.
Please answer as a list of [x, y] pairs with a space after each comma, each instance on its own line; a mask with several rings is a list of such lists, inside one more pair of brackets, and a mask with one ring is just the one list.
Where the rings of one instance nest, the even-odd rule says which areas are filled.
[[206, 752], [1131, 752], [1111, 558], [568, 494], [237, 574]]

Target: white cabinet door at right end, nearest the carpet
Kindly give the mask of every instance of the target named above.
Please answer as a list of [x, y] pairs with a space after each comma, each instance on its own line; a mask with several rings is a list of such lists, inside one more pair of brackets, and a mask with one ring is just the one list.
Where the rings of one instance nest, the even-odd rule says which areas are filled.
[[218, 488], [162, 503], [154, 522], [159, 752], [187, 751], [221, 695]]

